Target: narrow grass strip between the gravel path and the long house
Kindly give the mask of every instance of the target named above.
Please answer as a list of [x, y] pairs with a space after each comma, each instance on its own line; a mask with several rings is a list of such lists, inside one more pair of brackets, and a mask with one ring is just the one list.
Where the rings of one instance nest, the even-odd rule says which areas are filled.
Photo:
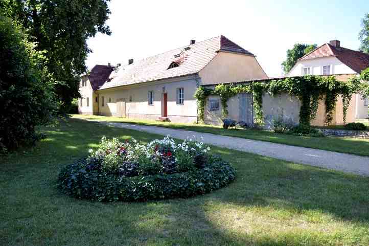
[[162, 126], [173, 129], [192, 130], [198, 132], [214, 133], [217, 135], [239, 137], [252, 140], [267, 141], [272, 143], [302, 146], [314, 149], [324, 149], [342, 153], [369, 156], [369, 139], [355, 139], [342, 137], [299, 137], [286, 134], [276, 134], [272, 131], [255, 129], [223, 129], [222, 126], [205, 124], [182, 124], [171, 122], [157, 122], [152, 120], [126, 119], [119, 117], [72, 115], [73, 118], [88, 120], [103, 120], [110, 122], [125, 122], [141, 125]]

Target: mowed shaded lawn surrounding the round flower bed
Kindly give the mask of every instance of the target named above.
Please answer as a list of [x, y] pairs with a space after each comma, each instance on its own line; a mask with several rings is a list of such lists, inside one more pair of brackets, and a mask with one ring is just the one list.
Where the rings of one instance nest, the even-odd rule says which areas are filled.
[[[228, 187], [189, 199], [93, 203], [56, 189], [103, 136], [162, 136], [70, 119], [0, 161], [0, 245], [369, 245], [369, 178], [229, 149]], [[200, 136], [200, 135], [199, 135]]]

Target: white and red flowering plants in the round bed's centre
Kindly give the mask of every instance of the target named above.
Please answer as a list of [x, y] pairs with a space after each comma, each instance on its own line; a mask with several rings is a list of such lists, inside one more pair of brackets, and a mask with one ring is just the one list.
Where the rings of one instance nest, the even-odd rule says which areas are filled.
[[176, 144], [168, 135], [143, 145], [135, 139], [122, 143], [116, 138], [103, 137], [97, 150], [89, 149], [87, 160], [103, 172], [126, 176], [183, 172], [206, 164], [210, 147], [203, 144], [202, 137], [200, 140], [193, 136]]

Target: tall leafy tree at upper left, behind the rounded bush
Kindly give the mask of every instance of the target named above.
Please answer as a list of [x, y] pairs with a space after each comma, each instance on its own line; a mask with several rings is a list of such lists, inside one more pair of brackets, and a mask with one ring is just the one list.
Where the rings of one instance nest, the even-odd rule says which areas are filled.
[[80, 74], [91, 50], [86, 40], [98, 32], [110, 35], [105, 24], [110, 0], [0, 0], [3, 15], [27, 30], [36, 49], [46, 51], [61, 110], [79, 97]]

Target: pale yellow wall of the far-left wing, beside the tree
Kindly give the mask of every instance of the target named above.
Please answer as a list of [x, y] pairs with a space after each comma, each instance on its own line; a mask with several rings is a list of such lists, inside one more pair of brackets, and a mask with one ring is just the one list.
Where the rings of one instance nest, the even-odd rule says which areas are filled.
[[[93, 115], [94, 92], [87, 76], [81, 78], [79, 93], [82, 98], [78, 99], [78, 112], [83, 115]], [[82, 105], [81, 105], [82, 101]], [[88, 101], [88, 106], [87, 106]]]

